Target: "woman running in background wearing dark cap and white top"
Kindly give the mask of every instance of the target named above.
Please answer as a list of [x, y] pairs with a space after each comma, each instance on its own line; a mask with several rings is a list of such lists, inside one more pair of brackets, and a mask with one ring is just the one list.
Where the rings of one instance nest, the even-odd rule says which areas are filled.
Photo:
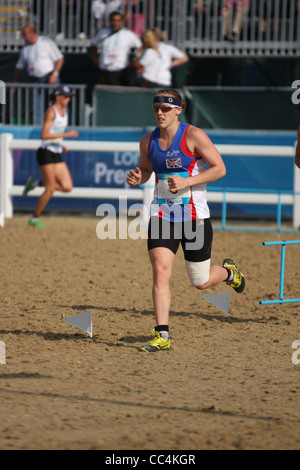
[[42, 181], [29, 177], [23, 191], [26, 197], [29, 191], [37, 186], [44, 186], [45, 191], [38, 199], [36, 208], [28, 225], [44, 228], [45, 225], [39, 217], [50, 201], [54, 191], [70, 192], [73, 181], [66, 163], [62, 159], [62, 153], [67, 149], [63, 146], [63, 138], [78, 137], [78, 132], [65, 129], [68, 127], [68, 104], [74, 93], [67, 86], [58, 86], [51, 94], [53, 105], [45, 113], [41, 139], [42, 143], [37, 150], [37, 162], [40, 167]]

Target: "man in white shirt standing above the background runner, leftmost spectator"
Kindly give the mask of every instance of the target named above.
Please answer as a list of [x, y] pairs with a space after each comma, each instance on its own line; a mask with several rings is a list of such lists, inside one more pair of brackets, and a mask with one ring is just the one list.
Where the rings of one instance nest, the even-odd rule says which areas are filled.
[[[23, 38], [26, 46], [21, 50], [15, 68], [14, 82], [20, 81], [22, 70], [27, 67], [32, 83], [59, 84], [59, 74], [64, 63], [64, 57], [54, 41], [46, 36], [38, 36], [34, 24], [23, 28]], [[14, 88], [14, 92], [16, 88]], [[41, 90], [36, 93], [36, 120], [42, 122]], [[33, 94], [31, 93], [31, 113], [33, 112]]]

